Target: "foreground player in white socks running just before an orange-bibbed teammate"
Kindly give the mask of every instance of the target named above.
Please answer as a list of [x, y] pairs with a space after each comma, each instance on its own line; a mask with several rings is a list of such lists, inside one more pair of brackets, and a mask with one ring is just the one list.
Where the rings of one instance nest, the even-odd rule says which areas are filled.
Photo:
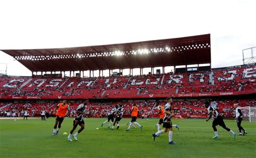
[[172, 141], [172, 133], [173, 133], [173, 129], [172, 129], [172, 121], [171, 121], [171, 116], [174, 115], [174, 113], [172, 113], [171, 111], [171, 105], [172, 105], [172, 98], [168, 97], [166, 99], [167, 104], [165, 105], [164, 108], [164, 119], [163, 119], [163, 127], [164, 129], [159, 130], [157, 133], [153, 133], [153, 141], [156, 139], [156, 136], [159, 136], [160, 134], [166, 133], [169, 129], [169, 144], [170, 145], [175, 145], [176, 142]]

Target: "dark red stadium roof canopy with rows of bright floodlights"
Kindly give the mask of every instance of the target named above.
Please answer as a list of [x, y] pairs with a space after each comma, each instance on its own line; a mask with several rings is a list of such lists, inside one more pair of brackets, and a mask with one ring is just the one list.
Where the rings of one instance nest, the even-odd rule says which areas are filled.
[[210, 34], [110, 45], [2, 51], [32, 72], [211, 64]]

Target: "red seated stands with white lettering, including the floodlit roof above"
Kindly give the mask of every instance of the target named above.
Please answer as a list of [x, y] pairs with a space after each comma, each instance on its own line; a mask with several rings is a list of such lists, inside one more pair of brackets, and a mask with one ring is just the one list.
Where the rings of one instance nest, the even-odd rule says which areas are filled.
[[[95, 118], [105, 117], [118, 103], [124, 105], [125, 116], [129, 116], [133, 102], [139, 105], [140, 115], [157, 117], [151, 111], [155, 101], [164, 104], [170, 96], [176, 118], [206, 118], [205, 100], [216, 103], [226, 118], [232, 116], [234, 103], [256, 106], [256, 64], [212, 68], [210, 34], [125, 44], [2, 51], [31, 70], [32, 77], [0, 74], [1, 116], [21, 116], [25, 109], [30, 116], [39, 116], [42, 107], [49, 116], [54, 116], [56, 104], [63, 99], [69, 101], [74, 116], [84, 98], [90, 99], [87, 116]], [[173, 66], [173, 71], [165, 72], [167, 66]], [[146, 67], [151, 72], [143, 74]], [[162, 68], [155, 71], [154, 67]], [[139, 68], [140, 75], [133, 75], [134, 68]], [[116, 69], [119, 72], [113, 73]], [[130, 74], [123, 75], [124, 69], [130, 69]], [[98, 77], [94, 77], [96, 70]], [[109, 77], [103, 76], [103, 70], [109, 70]], [[75, 75], [75, 71], [79, 73]], [[84, 77], [85, 71], [90, 72], [88, 77]], [[76, 77], [71, 77], [72, 72]]]

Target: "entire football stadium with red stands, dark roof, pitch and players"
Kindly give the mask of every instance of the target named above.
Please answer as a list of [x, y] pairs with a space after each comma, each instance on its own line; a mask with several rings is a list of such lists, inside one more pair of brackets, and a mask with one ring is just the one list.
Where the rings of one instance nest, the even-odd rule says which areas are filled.
[[213, 67], [211, 35], [2, 49], [1, 157], [255, 157], [256, 47]]

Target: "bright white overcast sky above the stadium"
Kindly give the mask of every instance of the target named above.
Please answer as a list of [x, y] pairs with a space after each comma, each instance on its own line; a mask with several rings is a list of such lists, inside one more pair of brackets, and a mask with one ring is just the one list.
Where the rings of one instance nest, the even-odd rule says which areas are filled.
[[[211, 33], [212, 67], [224, 67], [241, 65], [242, 50], [256, 46], [255, 0], [1, 0], [0, 6], [0, 50], [130, 43]], [[31, 75], [1, 51], [0, 63], [7, 64], [9, 75]], [[0, 73], [6, 64], [0, 64]]]

